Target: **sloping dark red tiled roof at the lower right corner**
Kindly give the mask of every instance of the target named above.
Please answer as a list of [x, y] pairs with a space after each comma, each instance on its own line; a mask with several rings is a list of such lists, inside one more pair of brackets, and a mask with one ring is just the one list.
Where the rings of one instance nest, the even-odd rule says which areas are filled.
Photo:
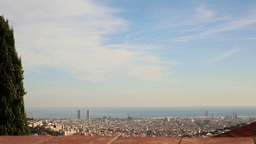
[[248, 124], [246, 126], [242, 126], [240, 128], [236, 128], [234, 130], [230, 130], [228, 132], [224, 132], [222, 134], [218, 134], [217, 136], [212, 137], [253, 137], [256, 136], [256, 122], [252, 124]]

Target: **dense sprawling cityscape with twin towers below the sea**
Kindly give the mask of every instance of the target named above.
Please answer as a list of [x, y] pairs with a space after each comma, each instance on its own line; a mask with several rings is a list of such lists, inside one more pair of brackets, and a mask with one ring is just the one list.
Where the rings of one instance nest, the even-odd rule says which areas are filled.
[[[86, 118], [80, 118], [78, 110], [77, 118], [43, 118], [28, 120], [31, 135], [84, 135], [84, 136], [152, 136], [152, 137], [199, 137], [206, 138], [227, 132], [230, 128], [237, 128], [255, 121], [255, 117], [247, 118], [238, 116], [205, 116], [194, 117], [156, 117], [133, 118], [128, 114], [127, 118], [90, 118], [90, 110], [86, 112]], [[45, 131], [35, 131], [33, 129]], [[34, 132], [34, 133], [33, 133]]]

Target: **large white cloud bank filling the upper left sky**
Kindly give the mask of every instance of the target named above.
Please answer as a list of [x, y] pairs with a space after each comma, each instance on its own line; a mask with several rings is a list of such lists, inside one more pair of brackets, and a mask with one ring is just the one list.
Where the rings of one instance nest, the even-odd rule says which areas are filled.
[[[157, 46], [104, 45], [106, 36], [128, 28], [128, 21], [114, 16], [124, 10], [88, 0], [10, 0], [0, 8], [13, 23], [16, 49], [22, 55], [25, 70], [40, 72], [42, 68], [54, 67], [90, 82], [115, 76], [159, 80], [165, 78], [162, 70], [180, 64], [163, 62], [147, 53]], [[146, 63], [141, 64], [142, 60]]]

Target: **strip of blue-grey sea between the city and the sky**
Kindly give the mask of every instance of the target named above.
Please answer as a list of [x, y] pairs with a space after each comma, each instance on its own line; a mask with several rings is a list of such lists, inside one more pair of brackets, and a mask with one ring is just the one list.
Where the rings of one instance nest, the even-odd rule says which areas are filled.
[[[193, 117], [205, 116], [208, 110], [210, 116], [232, 116], [233, 112], [238, 116], [256, 117], [256, 106], [167, 106], [167, 107], [25, 107], [27, 117], [35, 118], [77, 118], [80, 110], [80, 118], [86, 118], [87, 110], [90, 110], [91, 118], [127, 118], [128, 114], [133, 118], [152, 117]], [[28, 115], [29, 111], [29, 115]]]

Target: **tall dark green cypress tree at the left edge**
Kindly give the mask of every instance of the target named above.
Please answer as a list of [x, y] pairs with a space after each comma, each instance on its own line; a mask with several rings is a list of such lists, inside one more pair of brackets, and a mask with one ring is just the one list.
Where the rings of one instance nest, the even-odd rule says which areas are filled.
[[0, 135], [30, 133], [23, 96], [23, 69], [15, 49], [13, 28], [0, 16]]

